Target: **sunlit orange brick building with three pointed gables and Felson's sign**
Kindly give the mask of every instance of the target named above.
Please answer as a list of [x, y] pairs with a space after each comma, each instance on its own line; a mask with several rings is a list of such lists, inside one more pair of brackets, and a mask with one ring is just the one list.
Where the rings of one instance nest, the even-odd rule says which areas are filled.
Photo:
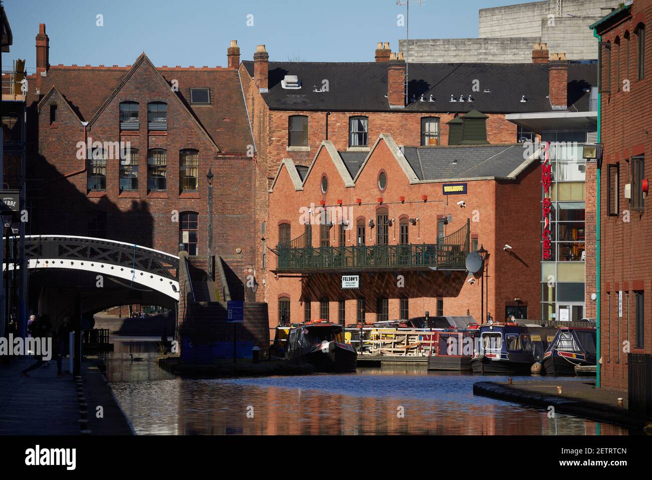
[[[504, 320], [520, 307], [538, 319], [539, 166], [522, 144], [401, 149], [385, 133], [369, 153], [325, 140], [309, 167], [284, 159], [265, 235], [276, 254], [266, 276], [270, 327], [426, 311], [480, 321], [481, 272], [467, 276], [465, 266], [480, 246], [484, 312]], [[359, 288], [342, 288], [347, 275], [359, 275]]]

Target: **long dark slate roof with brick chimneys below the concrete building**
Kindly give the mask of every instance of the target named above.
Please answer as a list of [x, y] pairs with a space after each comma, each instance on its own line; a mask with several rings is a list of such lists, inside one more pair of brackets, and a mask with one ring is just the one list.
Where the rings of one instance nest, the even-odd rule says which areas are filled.
[[[253, 76], [254, 62], [243, 61]], [[387, 112], [388, 63], [269, 62], [269, 91], [263, 99], [273, 110]], [[301, 89], [284, 89], [285, 75], [297, 75]], [[552, 111], [548, 100], [548, 65], [528, 63], [409, 63], [406, 112], [526, 113]], [[328, 91], [315, 91], [328, 80]], [[472, 90], [479, 80], [479, 91]], [[588, 110], [597, 85], [596, 64], [569, 64], [569, 110]], [[488, 90], [488, 92], [485, 92]], [[451, 102], [451, 94], [473, 102]], [[424, 102], [421, 102], [424, 95]], [[433, 101], [428, 101], [432, 95]], [[526, 102], [522, 103], [522, 95]]]

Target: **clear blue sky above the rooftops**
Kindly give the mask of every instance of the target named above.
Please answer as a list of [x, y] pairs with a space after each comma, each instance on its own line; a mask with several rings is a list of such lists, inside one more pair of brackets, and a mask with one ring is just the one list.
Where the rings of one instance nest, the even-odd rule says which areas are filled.
[[[523, 0], [411, 0], [409, 37], [477, 37], [479, 8]], [[405, 0], [402, 0], [405, 3]], [[128, 65], [145, 52], [155, 65], [226, 66], [238, 40], [241, 59], [265, 44], [271, 60], [373, 61], [376, 42], [406, 37], [396, 0], [3, 0], [14, 36], [3, 67], [27, 59], [46, 24], [50, 63]], [[96, 25], [101, 14], [104, 26]], [[252, 15], [253, 25], [247, 26]]]

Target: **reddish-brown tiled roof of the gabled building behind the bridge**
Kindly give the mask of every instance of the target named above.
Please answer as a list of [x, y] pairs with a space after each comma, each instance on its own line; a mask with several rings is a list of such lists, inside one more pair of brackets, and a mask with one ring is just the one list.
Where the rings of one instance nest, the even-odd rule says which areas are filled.
[[[67, 67], [51, 65], [41, 78], [40, 93], [55, 87], [80, 120], [89, 121], [128, 74], [128, 67]], [[179, 81], [177, 95], [223, 153], [244, 153], [253, 145], [249, 118], [237, 70], [156, 68], [170, 83]], [[192, 106], [190, 88], [211, 89], [211, 104]], [[116, 118], [117, 121], [117, 118]]]

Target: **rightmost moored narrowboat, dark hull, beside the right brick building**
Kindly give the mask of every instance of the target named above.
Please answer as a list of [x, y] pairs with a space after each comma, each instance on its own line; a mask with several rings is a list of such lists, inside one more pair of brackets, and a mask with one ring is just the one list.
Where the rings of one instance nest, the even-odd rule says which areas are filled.
[[596, 364], [595, 328], [562, 327], [543, 356], [549, 375], [575, 375], [576, 366]]

